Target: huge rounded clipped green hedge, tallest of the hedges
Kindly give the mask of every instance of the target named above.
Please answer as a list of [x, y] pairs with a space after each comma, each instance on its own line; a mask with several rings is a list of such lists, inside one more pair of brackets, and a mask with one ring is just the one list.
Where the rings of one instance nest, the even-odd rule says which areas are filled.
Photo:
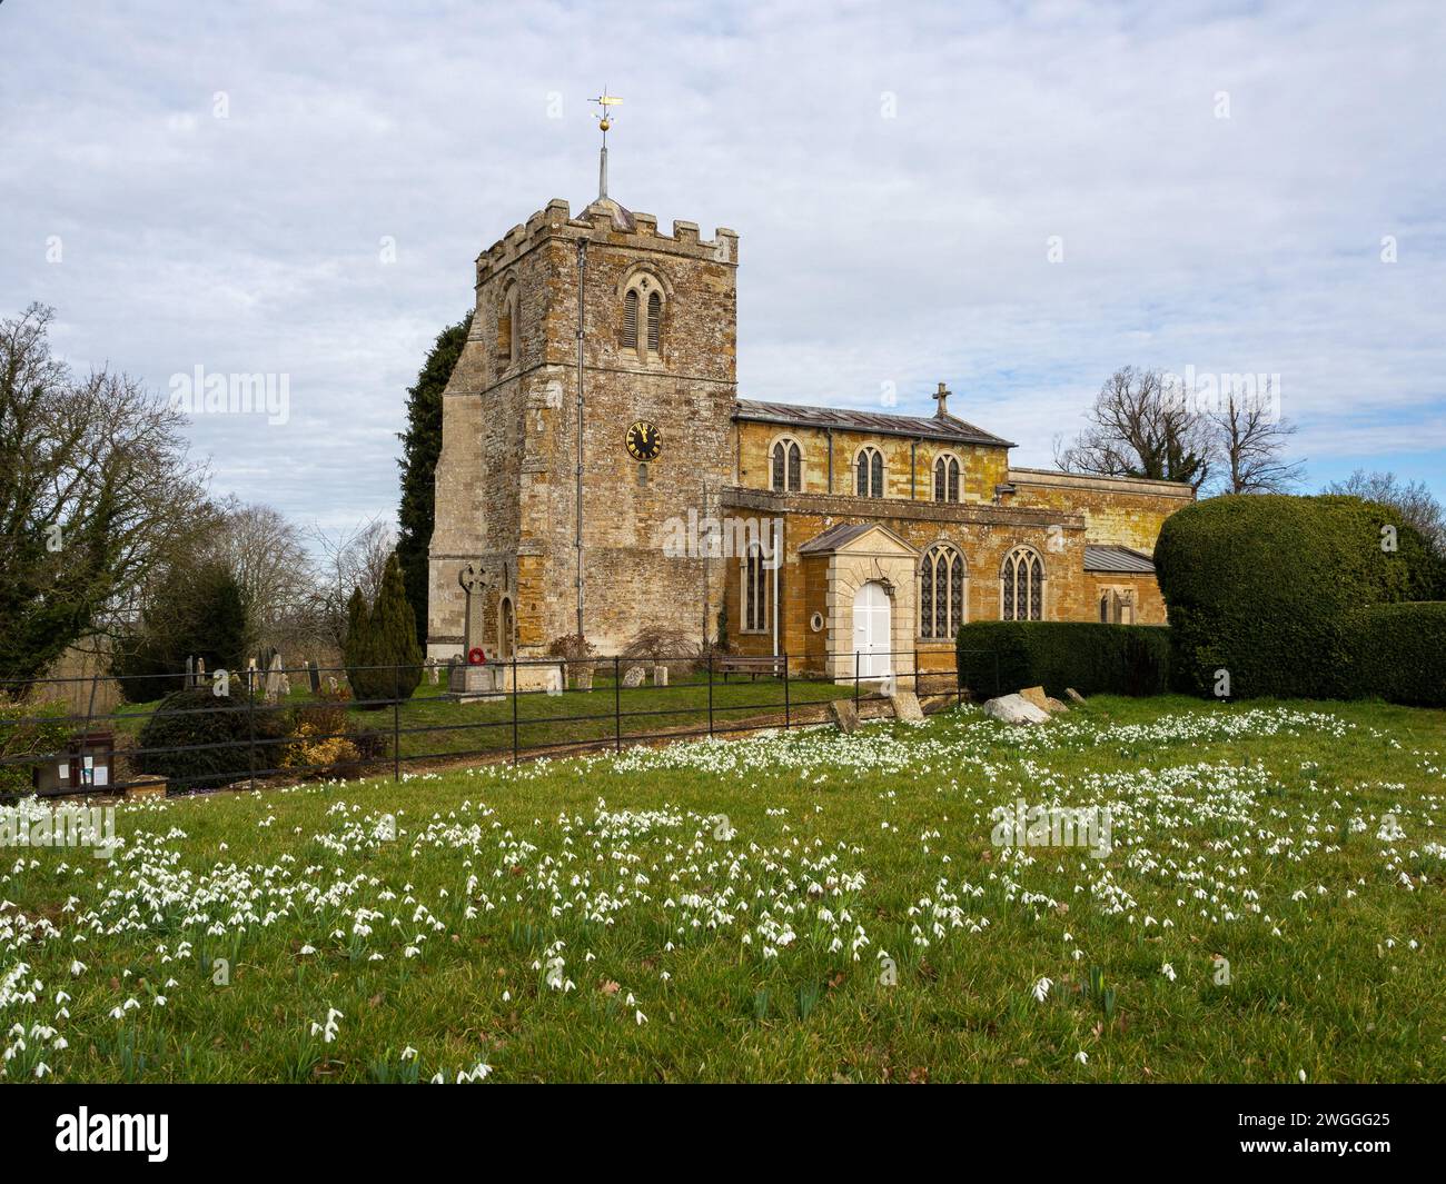
[[[1394, 528], [1395, 549], [1382, 546]], [[1390, 506], [1359, 497], [1212, 497], [1165, 519], [1155, 571], [1180, 690], [1352, 698], [1364, 609], [1446, 596], [1446, 565]]]

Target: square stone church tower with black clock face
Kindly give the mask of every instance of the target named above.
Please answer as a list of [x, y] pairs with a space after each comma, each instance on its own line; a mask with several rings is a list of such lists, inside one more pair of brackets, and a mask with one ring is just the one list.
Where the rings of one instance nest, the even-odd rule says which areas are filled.
[[461, 652], [469, 565], [489, 661], [541, 656], [580, 616], [600, 653], [648, 626], [697, 640], [722, 603], [722, 564], [662, 541], [733, 479], [737, 234], [662, 234], [600, 188], [477, 257], [442, 398], [429, 656]]

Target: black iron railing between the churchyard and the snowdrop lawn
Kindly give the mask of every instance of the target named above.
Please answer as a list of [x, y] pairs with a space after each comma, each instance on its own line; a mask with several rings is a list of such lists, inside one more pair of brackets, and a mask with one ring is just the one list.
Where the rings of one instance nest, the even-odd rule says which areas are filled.
[[[920, 669], [924, 661], [947, 665]], [[464, 669], [484, 674], [473, 675], [470, 685], [457, 675], [454, 684], [454, 671]], [[659, 677], [659, 669], [667, 677]], [[377, 679], [382, 671], [390, 678]], [[403, 694], [418, 671], [419, 685]], [[953, 703], [963, 695], [953, 649], [512, 658], [480, 668], [353, 666], [350, 674], [362, 675], [362, 685], [373, 690], [377, 681], [383, 687], [390, 682], [392, 694], [354, 697], [344, 666], [308, 664], [165, 674], [150, 677], [153, 682], [127, 678], [130, 694], [139, 698], [149, 694], [140, 688], [150, 685], [156, 700], [106, 713], [74, 713], [43, 704], [48, 697], [81, 701], [75, 698], [80, 682], [91, 684], [87, 701], [94, 704], [100, 679], [0, 682], [0, 703], [12, 704], [0, 714], [0, 795], [26, 792], [22, 782], [27, 776], [35, 784], [48, 765], [69, 763], [67, 756], [74, 753], [81, 763], [87, 756], [108, 760], [106, 784], [72, 779], [56, 788], [51, 778], [51, 792], [110, 794], [155, 785], [158, 778], [171, 792], [254, 788], [266, 781], [375, 775], [388, 766], [401, 779], [406, 769], [444, 762], [518, 762], [523, 756], [620, 752], [626, 745], [811, 727], [833, 718], [830, 704], [836, 700], [857, 710], [899, 690]], [[188, 694], [172, 695], [176, 684]], [[27, 739], [56, 727], [74, 733], [61, 749]]]

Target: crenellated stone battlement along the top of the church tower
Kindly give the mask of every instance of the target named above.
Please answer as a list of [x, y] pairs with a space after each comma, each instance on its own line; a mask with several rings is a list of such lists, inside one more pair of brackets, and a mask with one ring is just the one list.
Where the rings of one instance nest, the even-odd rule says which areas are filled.
[[574, 218], [565, 201], [552, 198], [526, 223], [512, 227], [477, 256], [477, 283], [484, 283], [489, 276], [505, 270], [549, 239], [584, 239], [615, 247], [737, 265], [737, 231], [727, 227], [714, 230], [713, 239], [701, 239], [697, 223], [674, 221], [672, 234], [661, 234], [655, 214], [635, 214], [616, 201], [600, 198]]

